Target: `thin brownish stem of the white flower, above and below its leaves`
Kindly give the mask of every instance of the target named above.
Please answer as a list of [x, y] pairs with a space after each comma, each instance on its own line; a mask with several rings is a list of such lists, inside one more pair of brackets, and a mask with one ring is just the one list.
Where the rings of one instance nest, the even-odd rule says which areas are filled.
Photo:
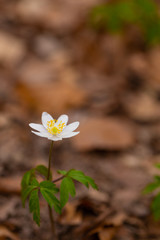
[[[51, 141], [51, 146], [50, 146], [50, 150], [49, 150], [47, 180], [49, 180], [50, 171], [51, 171], [52, 150], [53, 150], [53, 141]], [[49, 218], [50, 218], [50, 222], [51, 222], [52, 234], [53, 234], [54, 240], [57, 240], [57, 235], [56, 235], [56, 232], [55, 232], [54, 217], [53, 217], [53, 213], [52, 213], [52, 208], [49, 206], [49, 204], [48, 204], [48, 211], [49, 211]]]

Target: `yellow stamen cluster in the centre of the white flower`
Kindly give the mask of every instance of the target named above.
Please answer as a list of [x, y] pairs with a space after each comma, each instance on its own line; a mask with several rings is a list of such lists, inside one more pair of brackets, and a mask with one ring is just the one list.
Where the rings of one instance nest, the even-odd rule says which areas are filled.
[[63, 128], [65, 127], [65, 123], [62, 123], [62, 121], [60, 121], [60, 123], [57, 126], [55, 126], [55, 123], [56, 120], [50, 120], [47, 122], [47, 130], [52, 135], [57, 135], [61, 133]]

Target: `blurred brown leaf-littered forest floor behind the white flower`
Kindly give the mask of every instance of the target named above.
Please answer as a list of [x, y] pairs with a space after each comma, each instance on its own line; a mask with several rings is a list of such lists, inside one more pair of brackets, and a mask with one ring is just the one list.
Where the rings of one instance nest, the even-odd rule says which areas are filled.
[[160, 14], [154, 0], [0, 1], [0, 239], [49, 239], [20, 200], [25, 171], [47, 165], [50, 142], [31, 134], [43, 111], [80, 121], [54, 144], [55, 169], [77, 184], [55, 215], [62, 240], [159, 240], [151, 196], [142, 189], [160, 161]]

